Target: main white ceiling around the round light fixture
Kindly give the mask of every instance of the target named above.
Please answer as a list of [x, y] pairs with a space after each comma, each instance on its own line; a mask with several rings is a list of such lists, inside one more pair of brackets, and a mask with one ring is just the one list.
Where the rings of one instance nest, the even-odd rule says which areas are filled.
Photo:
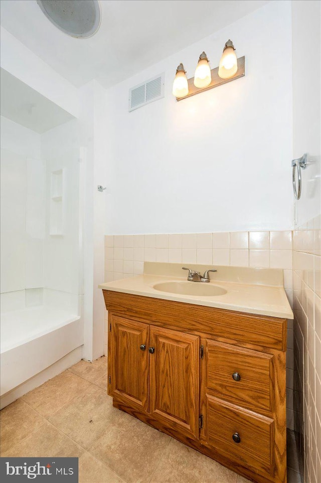
[[36, 0], [1, 0], [1, 25], [75, 86], [96, 79], [108, 87], [269, 1], [100, 0], [100, 29], [75, 39], [52, 25]]

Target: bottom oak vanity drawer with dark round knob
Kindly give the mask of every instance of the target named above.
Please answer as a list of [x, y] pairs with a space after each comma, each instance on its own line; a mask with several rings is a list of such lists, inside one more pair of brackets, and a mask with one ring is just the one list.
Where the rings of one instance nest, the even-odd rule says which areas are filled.
[[207, 442], [219, 453], [273, 476], [273, 439], [272, 419], [207, 397]]

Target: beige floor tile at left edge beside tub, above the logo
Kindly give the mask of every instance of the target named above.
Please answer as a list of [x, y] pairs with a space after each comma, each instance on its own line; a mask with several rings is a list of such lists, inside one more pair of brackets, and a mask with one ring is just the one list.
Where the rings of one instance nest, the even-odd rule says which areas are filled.
[[21, 399], [4, 408], [0, 413], [1, 455], [39, 429], [45, 421]]

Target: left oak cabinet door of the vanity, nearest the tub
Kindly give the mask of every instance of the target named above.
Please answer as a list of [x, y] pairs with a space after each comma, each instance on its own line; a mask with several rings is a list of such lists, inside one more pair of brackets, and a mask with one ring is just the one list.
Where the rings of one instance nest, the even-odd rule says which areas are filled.
[[117, 401], [143, 411], [148, 411], [147, 341], [147, 324], [111, 316], [109, 394]]

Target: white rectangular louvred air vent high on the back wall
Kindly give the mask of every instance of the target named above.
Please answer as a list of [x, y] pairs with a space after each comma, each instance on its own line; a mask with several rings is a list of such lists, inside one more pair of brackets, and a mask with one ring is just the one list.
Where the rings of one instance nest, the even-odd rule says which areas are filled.
[[164, 97], [165, 74], [157, 75], [129, 89], [129, 112]]

